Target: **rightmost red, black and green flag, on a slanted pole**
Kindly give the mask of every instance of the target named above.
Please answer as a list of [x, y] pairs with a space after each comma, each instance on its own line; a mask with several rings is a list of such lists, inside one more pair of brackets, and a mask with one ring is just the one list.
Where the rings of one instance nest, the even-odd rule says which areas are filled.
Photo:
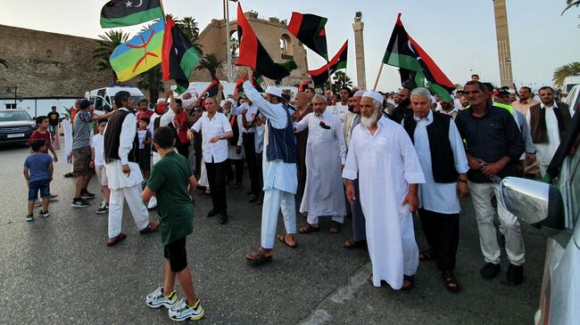
[[407, 34], [402, 26], [401, 13], [397, 16], [383, 62], [399, 68], [403, 85], [427, 87], [445, 101], [452, 99], [450, 93], [455, 90], [455, 85], [421, 46]]

